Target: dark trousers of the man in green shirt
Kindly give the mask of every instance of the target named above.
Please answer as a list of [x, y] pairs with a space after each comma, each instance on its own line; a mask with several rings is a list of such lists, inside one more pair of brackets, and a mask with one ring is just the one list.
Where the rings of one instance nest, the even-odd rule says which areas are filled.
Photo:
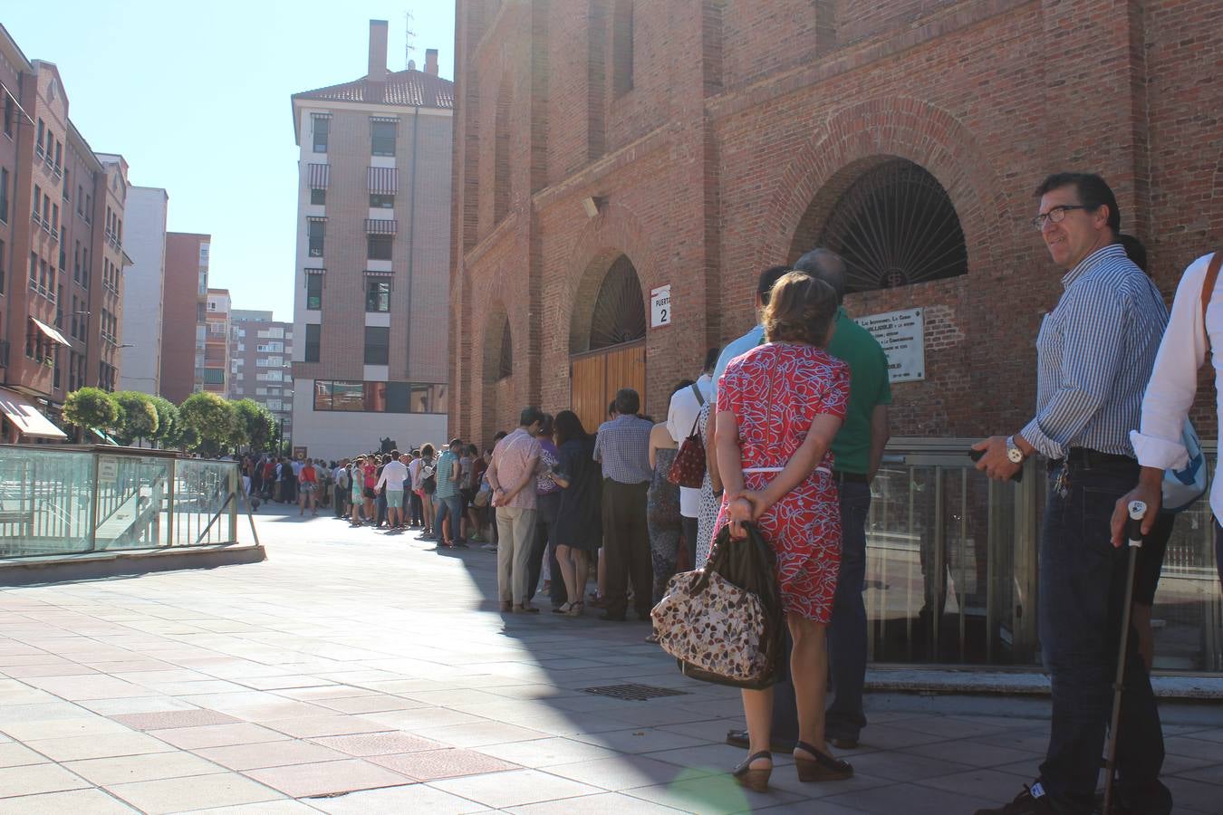
[[828, 706], [829, 738], [857, 738], [866, 727], [862, 684], [866, 682], [866, 516], [871, 486], [841, 481], [841, 563], [828, 626], [828, 660], [835, 695]]

